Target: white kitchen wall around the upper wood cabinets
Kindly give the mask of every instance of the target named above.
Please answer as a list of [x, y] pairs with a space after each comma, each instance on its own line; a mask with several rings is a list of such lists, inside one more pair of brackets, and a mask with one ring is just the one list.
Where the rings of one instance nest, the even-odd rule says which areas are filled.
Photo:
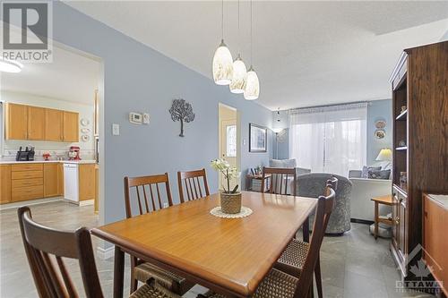
[[[89, 125], [82, 126], [80, 123], [80, 142], [69, 143], [60, 141], [44, 141], [44, 140], [4, 140], [4, 134], [2, 134], [3, 150], [2, 154], [4, 159], [15, 158], [16, 151], [22, 146], [34, 146], [36, 148], [36, 159], [42, 158], [44, 152], [49, 151], [53, 158], [56, 155], [66, 155], [66, 152], [70, 146], [79, 146], [81, 148], [81, 157], [83, 159], [93, 158], [94, 153], [94, 138], [93, 138], [93, 98], [92, 105], [77, 104], [69, 101], [65, 101], [58, 98], [46, 98], [38, 95], [19, 93], [13, 91], [1, 91], [1, 100], [5, 103], [12, 102], [16, 104], [23, 104], [29, 106], [42, 106], [49, 108], [56, 108], [65, 111], [72, 111], [79, 113], [80, 121], [82, 118], [89, 120]], [[4, 122], [4, 119], [2, 119]], [[82, 128], [89, 128], [89, 133], [82, 133]], [[82, 134], [89, 135], [89, 141], [82, 141]]]

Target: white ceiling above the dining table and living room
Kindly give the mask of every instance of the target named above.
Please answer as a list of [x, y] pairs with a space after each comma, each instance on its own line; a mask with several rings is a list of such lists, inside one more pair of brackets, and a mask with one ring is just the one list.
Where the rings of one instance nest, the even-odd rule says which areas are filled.
[[[211, 78], [220, 43], [220, 1], [67, 4]], [[448, 30], [447, 1], [253, 5], [258, 102], [271, 109], [390, 98], [388, 78], [402, 49], [437, 42]], [[249, 64], [250, 3], [240, 4], [240, 43], [237, 1], [224, 6], [228, 47], [234, 56], [240, 47]]]

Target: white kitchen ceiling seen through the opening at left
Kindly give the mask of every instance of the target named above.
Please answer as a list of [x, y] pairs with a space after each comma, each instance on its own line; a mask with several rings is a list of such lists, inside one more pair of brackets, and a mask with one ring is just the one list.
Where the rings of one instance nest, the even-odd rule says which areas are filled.
[[0, 72], [2, 90], [93, 105], [98, 61], [53, 44], [52, 63], [23, 64], [22, 72]]

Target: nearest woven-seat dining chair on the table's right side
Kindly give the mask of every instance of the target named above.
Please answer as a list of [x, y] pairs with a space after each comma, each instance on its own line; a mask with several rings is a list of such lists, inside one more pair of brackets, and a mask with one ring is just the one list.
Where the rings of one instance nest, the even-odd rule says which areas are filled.
[[[319, 260], [319, 251], [323, 242], [323, 235], [325, 234], [324, 226], [334, 207], [335, 193], [332, 188], [330, 188], [329, 192], [328, 196], [320, 196], [317, 199], [313, 234], [302, 269], [299, 272], [288, 274], [277, 268], [272, 268], [266, 277], [263, 278], [260, 285], [258, 285], [252, 296], [253, 298], [306, 298], [312, 295], [313, 272], [317, 260]], [[296, 258], [299, 257], [296, 256]], [[206, 294], [199, 294], [199, 297], [224, 298], [225, 296], [209, 291]]]

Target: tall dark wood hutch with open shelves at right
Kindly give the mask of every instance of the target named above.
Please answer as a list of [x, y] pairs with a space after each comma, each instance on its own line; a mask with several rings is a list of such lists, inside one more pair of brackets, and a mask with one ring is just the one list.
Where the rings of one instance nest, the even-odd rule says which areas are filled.
[[422, 192], [448, 191], [448, 41], [406, 49], [390, 82], [391, 251], [402, 278], [412, 280], [409, 269], [421, 258]]

